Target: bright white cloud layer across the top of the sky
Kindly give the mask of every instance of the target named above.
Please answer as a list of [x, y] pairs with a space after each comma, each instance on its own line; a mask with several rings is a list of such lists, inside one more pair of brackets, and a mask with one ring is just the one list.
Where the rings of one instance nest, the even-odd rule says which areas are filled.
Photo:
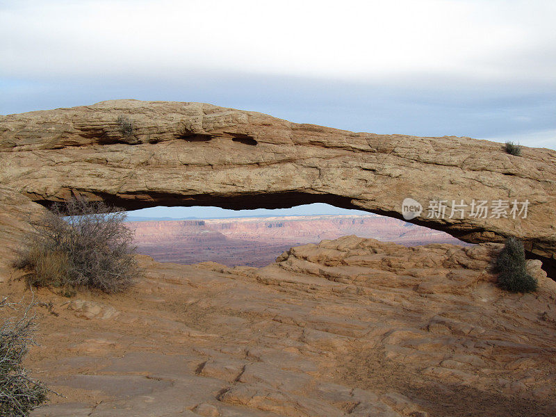
[[[556, 81], [556, 2], [17, 1], [0, 76], [228, 71]], [[539, 59], [534, 59], [537, 57]]]

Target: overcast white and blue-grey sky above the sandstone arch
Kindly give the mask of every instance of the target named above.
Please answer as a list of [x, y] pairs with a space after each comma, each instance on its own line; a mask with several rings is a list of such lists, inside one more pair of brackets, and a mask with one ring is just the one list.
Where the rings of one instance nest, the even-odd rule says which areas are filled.
[[203, 101], [556, 149], [555, 22], [555, 0], [0, 0], [0, 114]]

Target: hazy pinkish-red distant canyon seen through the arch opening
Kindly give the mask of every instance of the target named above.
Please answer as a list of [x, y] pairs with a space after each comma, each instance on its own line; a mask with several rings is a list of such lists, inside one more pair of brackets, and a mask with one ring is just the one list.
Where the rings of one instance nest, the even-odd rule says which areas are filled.
[[213, 261], [263, 267], [290, 247], [357, 235], [404, 246], [469, 245], [442, 231], [380, 215], [300, 215], [126, 223], [140, 254], [182, 264]]

